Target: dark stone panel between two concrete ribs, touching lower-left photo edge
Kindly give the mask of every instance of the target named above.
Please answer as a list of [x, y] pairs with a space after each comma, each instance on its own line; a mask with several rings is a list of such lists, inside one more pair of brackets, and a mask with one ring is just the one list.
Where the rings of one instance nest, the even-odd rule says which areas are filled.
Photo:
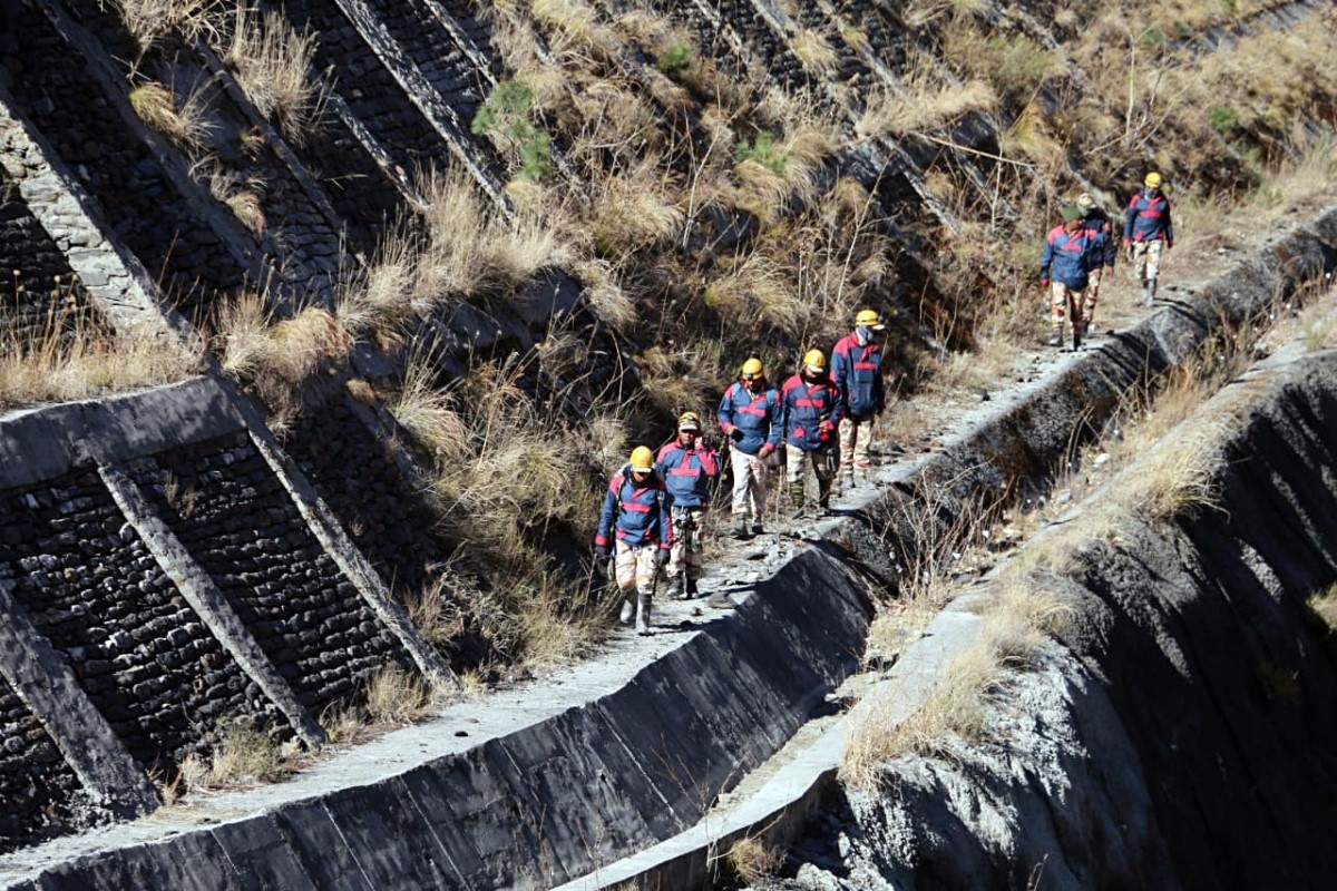
[[283, 719], [182, 600], [91, 468], [0, 492], [0, 580], [144, 769]]

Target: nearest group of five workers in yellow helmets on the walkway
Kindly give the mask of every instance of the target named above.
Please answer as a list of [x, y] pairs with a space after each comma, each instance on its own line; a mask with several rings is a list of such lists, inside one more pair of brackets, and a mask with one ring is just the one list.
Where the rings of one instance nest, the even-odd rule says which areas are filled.
[[[779, 387], [770, 383], [761, 359], [742, 363], [715, 413], [733, 476], [733, 538], [765, 534], [769, 477], [781, 465], [793, 520], [829, 514], [837, 477], [846, 493], [873, 484], [873, 422], [886, 407], [877, 339], [885, 327], [876, 310], [860, 310], [829, 362], [821, 350], [809, 350]], [[634, 622], [638, 635], [651, 633], [660, 573], [670, 600], [699, 596], [706, 517], [723, 468], [701, 415], [683, 411], [658, 454], [634, 448], [608, 481], [595, 566], [608, 569], [622, 594], [619, 620]], [[816, 492], [808, 488], [809, 468]]]

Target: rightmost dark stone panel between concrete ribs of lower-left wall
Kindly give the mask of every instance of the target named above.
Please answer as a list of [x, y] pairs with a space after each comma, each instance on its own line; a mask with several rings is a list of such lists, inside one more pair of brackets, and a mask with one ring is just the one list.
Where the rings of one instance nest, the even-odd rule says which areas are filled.
[[386, 661], [410, 665], [245, 431], [159, 453], [131, 474], [313, 713], [354, 697]]

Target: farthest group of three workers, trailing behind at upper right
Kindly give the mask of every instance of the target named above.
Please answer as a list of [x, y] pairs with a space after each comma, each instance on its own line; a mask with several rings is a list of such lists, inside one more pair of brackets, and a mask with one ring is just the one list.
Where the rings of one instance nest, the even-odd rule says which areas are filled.
[[[1123, 251], [1142, 286], [1142, 303], [1152, 306], [1163, 252], [1174, 247], [1170, 199], [1161, 174], [1151, 171], [1132, 195], [1123, 218]], [[1088, 194], [1063, 208], [1063, 222], [1044, 238], [1040, 287], [1050, 291], [1050, 346], [1063, 346], [1071, 325], [1072, 349], [1091, 330], [1100, 285], [1114, 274], [1118, 256], [1110, 216]]]

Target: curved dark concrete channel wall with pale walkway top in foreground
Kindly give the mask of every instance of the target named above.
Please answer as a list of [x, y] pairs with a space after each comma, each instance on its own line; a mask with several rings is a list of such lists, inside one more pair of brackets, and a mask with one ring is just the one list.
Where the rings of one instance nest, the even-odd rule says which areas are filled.
[[[0, 878], [16, 888], [274, 887], [266, 875], [282, 887], [551, 886], [699, 819], [853, 671], [869, 617], [865, 582], [806, 548], [730, 620], [638, 641], [615, 685], [596, 681], [603, 695], [584, 667], [548, 692], [452, 709], [362, 747], [309, 785], [211, 799], [221, 826], [159, 814], [100, 834], [110, 850], [84, 836], [5, 858]], [[493, 732], [465, 723], [483, 716]]]

